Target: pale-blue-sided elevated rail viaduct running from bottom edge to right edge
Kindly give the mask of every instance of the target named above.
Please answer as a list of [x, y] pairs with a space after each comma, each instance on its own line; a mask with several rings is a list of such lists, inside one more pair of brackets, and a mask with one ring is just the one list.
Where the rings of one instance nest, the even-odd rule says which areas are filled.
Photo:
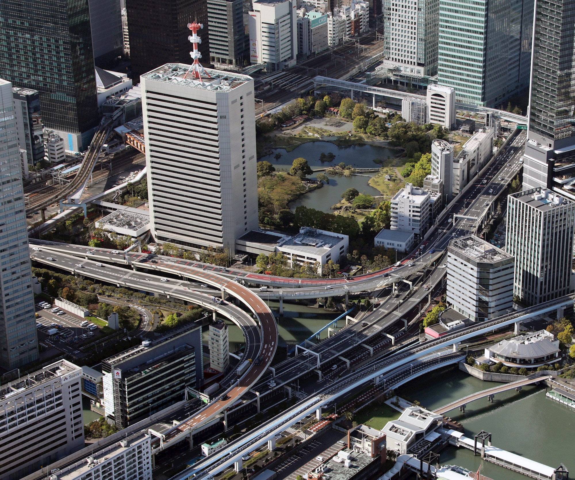
[[334, 381], [331, 385], [325, 387], [316, 394], [310, 395], [310, 397], [294, 405], [292, 408], [274, 418], [271, 418], [254, 431], [232, 441], [227, 445], [225, 451], [218, 451], [215, 454], [210, 455], [206, 459], [194, 464], [189, 469], [175, 475], [172, 477], [172, 480], [186, 480], [189, 478], [203, 480], [213, 478], [214, 475], [221, 473], [221, 471], [227, 469], [235, 462], [241, 463], [241, 457], [243, 455], [246, 455], [255, 448], [267, 443], [267, 441], [273, 439], [275, 435], [278, 435], [286, 428], [297, 423], [297, 421], [308, 416], [310, 413], [314, 411], [321, 413], [321, 408], [323, 408], [323, 406], [331, 404], [341, 395], [358, 389], [367, 381], [372, 379], [376, 379], [377, 381], [377, 379], [382, 375], [395, 371], [422, 356], [431, 355], [434, 352], [443, 350], [450, 345], [454, 345], [454, 348], [457, 349], [460, 342], [475, 336], [483, 335], [484, 333], [488, 333], [494, 329], [503, 328], [515, 322], [526, 320], [532, 316], [549, 313], [558, 308], [573, 305], [574, 299], [574, 294], [566, 295], [565, 297], [519, 310], [491, 321], [471, 325], [470, 327], [451, 333], [450, 335], [440, 337], [439, 339], [405, 348], [405, 350], [397, 352], [384, 360], [367, 365], [346, 377]]

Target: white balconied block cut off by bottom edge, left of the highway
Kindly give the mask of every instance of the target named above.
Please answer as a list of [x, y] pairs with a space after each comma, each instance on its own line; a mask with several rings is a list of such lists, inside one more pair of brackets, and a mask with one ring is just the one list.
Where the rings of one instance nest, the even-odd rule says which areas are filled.
[[53, 473], [49, 480], [152, 478], [150, 435], [139, 432]]

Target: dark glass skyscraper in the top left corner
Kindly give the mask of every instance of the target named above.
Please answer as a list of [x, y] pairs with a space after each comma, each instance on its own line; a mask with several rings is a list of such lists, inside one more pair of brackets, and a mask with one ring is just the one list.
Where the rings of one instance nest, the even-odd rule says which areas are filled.
[[98, 126], [88, 0], [2, 0], [0, 78], [40, 91], [44, 126], [82, 151]]

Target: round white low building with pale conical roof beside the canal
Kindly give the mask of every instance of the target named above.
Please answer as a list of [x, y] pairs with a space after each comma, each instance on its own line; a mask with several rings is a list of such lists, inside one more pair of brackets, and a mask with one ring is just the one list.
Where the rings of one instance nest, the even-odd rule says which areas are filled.
[[561, 358], [559, 340], [546, 330], [528, 333], [485, 348], [485, 358], [508, 367], [535, 368]]

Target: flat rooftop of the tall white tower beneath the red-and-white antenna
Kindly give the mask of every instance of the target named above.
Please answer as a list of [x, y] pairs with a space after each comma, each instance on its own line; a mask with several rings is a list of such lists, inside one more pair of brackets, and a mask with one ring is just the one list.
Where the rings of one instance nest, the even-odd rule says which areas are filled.
[[156, 82], [173, 83], [174, 85], [210, 91], [231, 91], [252, 80], [251, 76], [213, 70], [212, 68], [205, 68], [209, 77], [206, 76], [205, 79], [198, 80], [190, 74], [191, 68], [191, 65], [184, 63], [166, 63], [162, 67], [144, 74], [143, 77]]

